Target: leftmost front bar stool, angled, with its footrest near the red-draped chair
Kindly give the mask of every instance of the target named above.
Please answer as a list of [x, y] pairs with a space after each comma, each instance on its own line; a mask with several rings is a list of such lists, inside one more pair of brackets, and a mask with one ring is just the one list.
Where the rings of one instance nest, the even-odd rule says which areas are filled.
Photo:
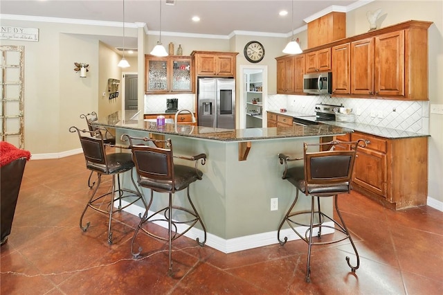
[[[86, 160], [86, 167], [87, 169], [91, 170], [91, 172], [97, 172], [98, 174], [97, 186], [94, 189], [87, 205], [84, 207], [82, 215], [80, 216], [80, 229], [82, 229], [82, 231], [87, 231], [89, 228], [90, 222], [87, 222], [86, 226], [82, 225], [84, 213], [86, 213], [88, 208], [92, 208], [95, 211], [108, 215], [108, 243], [112, 244], [112, 215], [134, 204], [139, 199], [147, 209], [145, 199], [143, 199], [134, 182], [134, 178], [132, 177], [132, 170], [134, 168], [132, 155], [129, 152], [106, 154], [105, 141], [100, 130], [81, 130], [72, 126], [69, 128], [69, 132], [78, 133], [78, 137], [80, 138], [80, 143], [83, 149], [84, 159]], [[131, 173], [131, 181], [135, 190], [120, 187], [120, 174], [127, 171]], [[109, 193], [96, 196], [97, 190], [100, 187], [102, 175], [112, 175], [112, 189]], [[118, 188], [116, 188], [116, 184]], [[107, 196], [110, 196], [110, 200], [107, 200]], [[122, 199], [127, 199], [127, 204], [125, 206], [122, 206]], [[116, 201], [118, 201], [118, 207], [114, 208], [114, 202]]]

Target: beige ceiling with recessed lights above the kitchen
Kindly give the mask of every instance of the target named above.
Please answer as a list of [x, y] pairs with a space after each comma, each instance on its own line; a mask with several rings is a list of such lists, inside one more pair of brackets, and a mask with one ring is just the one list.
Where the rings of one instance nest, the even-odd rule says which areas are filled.
[[[304, 19], [322, 10], [334, 8], [347, 11], [359, 0], [125, 0], [125, 23], [145, 23], [149, 31], [168, 33], [209, 34], [227, 36], [235, 31], [248, 31], [251, 35], [290, 35], [291, 28], [302, 28]], [[168, 0], [173, 1], [173, 0]], [[293, 4], [293, 24], [291, 6]], [[1, 0], [1, 14], [35, 17], [56, 17], [89, 21], [123, 22], [123, 0]], [[340, 7], [341, 6], [341, 7]], [[278, 12], [287, 10], [285, 17]], [[336, 9], [334, 9], [336, 10]], [[200, 17], [199, 23], [191, 18]], [[10, 18], [10, 17], [9, 17]], [[73, 21], [69, 21], [73, 22]], [[74, 21], [75, 22], [75, 21]], [[128, 26], [128, 25], [127, 25]], [[177, 34], [178, 35], [178, 34]], [[122, 47], [121, 31], [116, 37], [100, 37], [113, 47]], [[136, 48], [136, 40], [129, 38], [126, 47]]]

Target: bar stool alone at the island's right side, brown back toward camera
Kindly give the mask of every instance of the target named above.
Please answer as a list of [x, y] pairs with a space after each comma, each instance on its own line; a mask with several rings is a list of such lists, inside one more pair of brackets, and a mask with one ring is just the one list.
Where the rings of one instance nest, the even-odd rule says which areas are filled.
[[[355, 155], [359, 142], [361, 141], [331, 141], [329, 143], [312, 144], [304, 143], [303, 158], [291, 159], [285, 154], [278, 154], [280, 163], [284, 164], [282, 179], [286, 179], [289, 181], [289, 183], [296, 187], [296, 197], [289, 207], [286, 215], [284, 215], [280, 226], [278, 226], [277, 238], [281, 245], [284, 245], [287, 242], [287, 237], [284, 237], [284, 240], [280, 239], [280, 230], [282, 229], [284, 222], [287, 222], [289, 227], [300, 237], [300, 239], [307, 242], [308, 251], [305, 279], [308, 283], [311, 281], [311, 269], [309, 263], [311, 260], [311, 247], [313, 245], [332, 244], [349, 239], [356, 255], [356, 266], [352, 266], [350, 264], [350, 258], [348, 256], [346, 256], [347, 265], [349, 265], [351, 271], [353, 272], [359, 268], [359, 253], [357, 252], [350, 232], [347, 230], [345, 222], [341, 217], [337, 202], [339, 194], [350, 193], [352, 169], [354, 167]], [[329, 147], [329, 150], [323, 152], [308, 152], [307, 150], [310, 146], [315, 146], [317, 148], [327, 146]], [[288, 168], [289, 162], [298, 160], [303, 160], [304, 165]], [[299, 190], [302, 193], [305, 193], [305, 195], [309, 195], [311, 197], [311, 210], [292, 212], [298, 200]], [[321, 211], [320, 197], [334, 198], [334, 210], [336, 211], [338, 220], [334, 220], [333, 217], [330, 217]], [[315, 208], [315, 203], [317, 203], [317, 208]], [[309, 219], [309, 223], [300, 221], [303, 215], [305, 216], [305, 220]], [[298, 217], [298, 219], [296, 217]], [[314, 218], [316, 219], [315, 221]], [[333, 225], [335, 226], [325, 224], [325, 222], [328, 220], [333, 222]], [[295, 226], [306, 226], [307, 229], [305, 231], [305, 235], [300, 234]], [[334, 238], [334, 240], [322, 242], [322, 228], [334, 229], [335, 231], [343, 233], [343, 235], [340, 235], [338, 238]], [[314, 229], [318, 229], [318, 242], [313, 241]]]

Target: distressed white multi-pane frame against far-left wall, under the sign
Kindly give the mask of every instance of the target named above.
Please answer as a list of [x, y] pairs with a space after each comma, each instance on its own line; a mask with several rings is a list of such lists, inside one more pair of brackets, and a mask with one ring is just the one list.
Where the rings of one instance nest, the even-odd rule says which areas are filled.
[[24, 149], [24, 46], [0, 46], [1, 140]]

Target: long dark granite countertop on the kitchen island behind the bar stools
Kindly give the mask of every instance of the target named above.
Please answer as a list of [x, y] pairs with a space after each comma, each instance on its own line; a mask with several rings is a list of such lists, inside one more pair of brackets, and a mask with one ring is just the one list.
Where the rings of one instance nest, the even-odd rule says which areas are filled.
[[157, 134], [172, 134], [222, 142], [263, 141], [276, 138], [334, 136], [352, 132], [351, 129], [333, 125], [248, 129], [223, 129], [192, 125], [178, 125], [176, 127], [174, 124], [165, 124], [164, 127], [157, 127], [156, 122], [152, 122], [152, 120], [119, 120], [115, 118], [114, 120], [98, 120], [92, 124], [103, 127], [141, 130]]

